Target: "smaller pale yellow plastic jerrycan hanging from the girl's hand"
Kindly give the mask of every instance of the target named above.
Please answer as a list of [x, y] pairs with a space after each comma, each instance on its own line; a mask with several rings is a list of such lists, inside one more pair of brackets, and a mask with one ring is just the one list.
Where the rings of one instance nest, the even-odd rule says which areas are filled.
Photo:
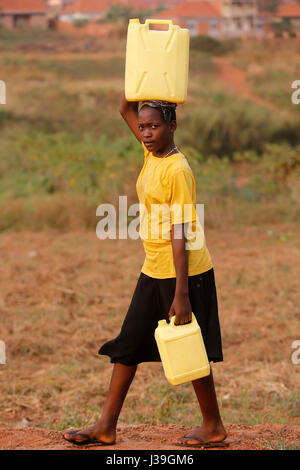
[[196, 317], [186, 325], [160, 320], [155, 339], [165, 376], [172, 385], [179, 385], [210, 374], [210, 366]]

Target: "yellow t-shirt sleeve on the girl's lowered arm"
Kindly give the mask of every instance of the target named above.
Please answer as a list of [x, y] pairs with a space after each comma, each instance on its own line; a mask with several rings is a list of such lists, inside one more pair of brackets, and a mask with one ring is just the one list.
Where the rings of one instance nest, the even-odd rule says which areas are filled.
[[194, 178], [185, 171], [177, 171], [171, 181], [170, 219], [171, 225], [197, 220], [193, 201]]

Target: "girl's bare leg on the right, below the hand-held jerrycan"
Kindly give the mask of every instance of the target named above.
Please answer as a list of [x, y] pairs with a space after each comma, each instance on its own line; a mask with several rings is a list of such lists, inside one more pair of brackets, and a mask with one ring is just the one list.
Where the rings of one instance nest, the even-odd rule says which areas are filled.
[[189, 434], [178, 438], [175, 442], [189, 445], [199, 444], [199, 441], [193, 439], [193, 437], [204, 439], [207, 442], [223, 441], [227, 433], [220, 416], [212, 370], [207, 377], [194, 380], [192, 383], [200, 405], [203, 423], [202, 426], [196, 427]]

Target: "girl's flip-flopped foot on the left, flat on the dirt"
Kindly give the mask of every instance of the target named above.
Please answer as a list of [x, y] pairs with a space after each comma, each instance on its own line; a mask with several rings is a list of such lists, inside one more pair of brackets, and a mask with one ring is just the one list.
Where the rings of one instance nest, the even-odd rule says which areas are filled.
[[113, 444], [116, 440], [115, 428], [105, 429], [99, 423], [84, 429], [67, 429], [62, 431], [63, 437], [70, 442], [89, 443], [93, 441], [101, 441], [103, 444]]

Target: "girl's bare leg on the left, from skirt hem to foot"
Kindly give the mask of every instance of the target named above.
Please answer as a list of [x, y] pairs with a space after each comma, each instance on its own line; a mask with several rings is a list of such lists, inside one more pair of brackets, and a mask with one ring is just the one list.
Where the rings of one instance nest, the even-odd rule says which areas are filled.
[[84, 434], [91, 439], [99, 439], [107, 443], [114, 442], [116, 440], [119, 414], [136, 370], [137, 366], [114, 364], [108, 395], [99, 421], [92, 426], [77, 431], [63, 431], [64, 438], [80, 442], [86, 440], [81, 436], [81, 434]]

